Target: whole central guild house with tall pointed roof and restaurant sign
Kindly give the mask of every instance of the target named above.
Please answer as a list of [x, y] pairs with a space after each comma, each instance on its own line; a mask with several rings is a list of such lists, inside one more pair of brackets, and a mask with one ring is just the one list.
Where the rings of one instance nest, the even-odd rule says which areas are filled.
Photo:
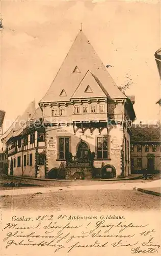
[[80, 31], [39, 103], [46, 125], [45, 176], [51, 170], [66, 179], [107, 177], [112, 170], [111, 177], [130, 175], [133, 103]]

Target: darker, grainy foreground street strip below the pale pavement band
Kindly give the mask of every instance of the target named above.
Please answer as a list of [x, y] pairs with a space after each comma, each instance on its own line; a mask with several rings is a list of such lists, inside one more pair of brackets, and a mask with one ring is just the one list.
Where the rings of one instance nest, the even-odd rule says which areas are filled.
[[72, 190], [1, 197], [6, 209], [26, 210], [140, 210], [159, 209], [160, 198], [135, 190]]

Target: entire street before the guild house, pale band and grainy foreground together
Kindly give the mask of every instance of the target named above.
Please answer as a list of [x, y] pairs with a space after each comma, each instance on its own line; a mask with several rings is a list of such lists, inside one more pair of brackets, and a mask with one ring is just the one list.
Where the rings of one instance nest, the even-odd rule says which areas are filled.
[[[35, 182], [35, 180], [28, 180], [28, 182], [29, 181]], [[11, 210], [28, 209], [58, 211], [64, 209], [75, 209], [79, 211], [101, 211], [112, 209], [137, 211], [140, 209], [160, 209], [160, 197], [133, 190], [133, 187], [138, 184], [143, 184], [147, 187], [150, 186], [153, 182], [151, 183], [149, 181], [45, 181], [44, 183], [43, 181], [36, 181], [36, 183], [41, 183], [41, 185], [44, 184], [45, 187], [34, 187], [31, 189], [23, 188], [21, 194], [19, 189], [14, 191], [2, 191], [2, 193], [7, 193], [8, 191], [10, 194], [1, 196], [1, 207], [3, 209]], [[12, 192], [15, 192], [15, 194], [13, 194], [14, 196], [11, 196]]]

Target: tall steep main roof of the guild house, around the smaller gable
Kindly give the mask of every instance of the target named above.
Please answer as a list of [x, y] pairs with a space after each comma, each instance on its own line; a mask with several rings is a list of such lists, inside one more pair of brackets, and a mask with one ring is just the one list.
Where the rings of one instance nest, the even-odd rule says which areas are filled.
[[[74, 70], [77, 72], [74, 72]], [[40, 103], [70, 100], [78, 87], [78, 84], [82, 81], [88, 70], [90, 70], [94, 76], [99, 78], [100, 83], [108, 92], [110, 98], [126, 98], [126, 96], [118, 89], [116, 83], [104, 67], [87, 37], [80, 31], [55, 79]], [[67, 95], [64, 98], [60, 96], [62, 90], [64, 90]]]

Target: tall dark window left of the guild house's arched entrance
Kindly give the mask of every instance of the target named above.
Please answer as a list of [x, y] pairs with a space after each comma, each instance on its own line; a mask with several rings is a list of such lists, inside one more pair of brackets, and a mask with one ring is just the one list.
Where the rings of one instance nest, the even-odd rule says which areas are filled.
[[65, 160], [67, 154], [69, 154], [70, 138], [59, 137], [59, 159]]

